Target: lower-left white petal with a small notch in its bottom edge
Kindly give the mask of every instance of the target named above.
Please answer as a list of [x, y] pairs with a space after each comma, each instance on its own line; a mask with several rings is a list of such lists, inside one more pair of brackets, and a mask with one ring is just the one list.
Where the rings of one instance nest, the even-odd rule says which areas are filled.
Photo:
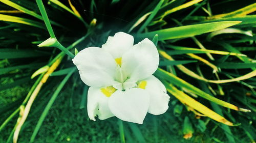
[[87, 110], [88, 116], [95, 121], [95, 116], [98, 115], [100, 120], [105, 120], [113, 117], [113, 113], [109, 109], [109, 97], [106, 97], [100, 88], [90, 87], [88, 90]]

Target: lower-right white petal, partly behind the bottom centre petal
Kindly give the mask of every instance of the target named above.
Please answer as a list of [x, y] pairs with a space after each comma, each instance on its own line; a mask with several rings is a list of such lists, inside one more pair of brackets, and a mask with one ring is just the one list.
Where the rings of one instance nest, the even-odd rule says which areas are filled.
[[150, 94], [150, 107], [148, 112], [153, 115], [160, 115], [168, 109], [169, 96], [163, 83], [155, 76], [146, 78], [145, 90]]

